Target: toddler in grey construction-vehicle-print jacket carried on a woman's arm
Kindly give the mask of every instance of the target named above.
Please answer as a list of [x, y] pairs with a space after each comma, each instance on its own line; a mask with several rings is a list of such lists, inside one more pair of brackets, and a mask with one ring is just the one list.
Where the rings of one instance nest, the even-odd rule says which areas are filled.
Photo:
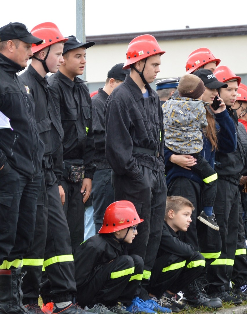
[[217, 173], [202, 157], [203, 148], [201, 128], [207, 126], [205, 105], [202, 101], [205, 91], [203, 81], [194, 74], [186, 74], [178, 84], [179, 97], [170, 97], [164, 104], [165, 147], [173, 154], [189, 154], [196, 158], [195, 171], [203, 185], [203, 211], [198, 219], [209, 227], [219, 230], [213, 204], [216, 196]]

